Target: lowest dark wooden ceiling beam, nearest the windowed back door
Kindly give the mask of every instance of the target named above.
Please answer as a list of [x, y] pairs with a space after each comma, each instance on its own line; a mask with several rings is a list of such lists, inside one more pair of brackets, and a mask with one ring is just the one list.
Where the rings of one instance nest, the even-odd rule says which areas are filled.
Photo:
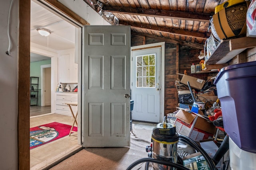
[[189, 42], [186, 42], [186, 41], [178, 41], [178, 40], [170, 39], [170, 38], [166, 38], [166, 37], [159, 37], [157, 35], [138, 33], [138, 32], [134, 32], [134, 31], [131, 32], [131, 35], [139, 36], [139, 37], [148, 37], [148, 38], [151, 38], [151, 39], [156, 39], [156, 40], [164, 41], [164, 42], [167, 42], [167, 43], [173, 43], [173, 44], [179, 44], [179, 45], [182, 45], [182, 46], [192, 47], [192, 48], [195, 48], [195, 49], [204, 49], [204, 45], [202, 45], [202, 44], [189, 43]]

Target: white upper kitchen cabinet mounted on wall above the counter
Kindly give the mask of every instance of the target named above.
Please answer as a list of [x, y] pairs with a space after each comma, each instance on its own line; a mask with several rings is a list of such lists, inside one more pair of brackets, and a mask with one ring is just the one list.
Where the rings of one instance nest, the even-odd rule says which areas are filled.
[[74, 49], [58, 52], [58, 82], [77, 83], [77, 67]]

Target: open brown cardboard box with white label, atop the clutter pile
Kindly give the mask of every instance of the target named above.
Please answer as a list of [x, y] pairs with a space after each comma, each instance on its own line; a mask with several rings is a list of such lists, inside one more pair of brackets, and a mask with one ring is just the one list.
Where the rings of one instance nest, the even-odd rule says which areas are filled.
[[188, 76], [185, 74], [180, 74], [180, 73], [177, 73], [177, 74], [182, 75], [182, 79], [180, 80], [182, 84], [188, 85], [188, 82], [189, 82], [191, 88], [195, 88], [197, 90], [201, 90], [204, 87], [205, 80]]

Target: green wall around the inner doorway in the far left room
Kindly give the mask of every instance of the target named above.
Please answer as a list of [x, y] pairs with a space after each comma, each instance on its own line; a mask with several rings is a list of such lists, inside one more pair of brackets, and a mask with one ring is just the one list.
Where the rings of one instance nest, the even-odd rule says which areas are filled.
[[30, 63], [30, 77], [39, 77], [38, 82], [38, 106], [41, 106], [41, 65], [51, 64], [51, 60]]

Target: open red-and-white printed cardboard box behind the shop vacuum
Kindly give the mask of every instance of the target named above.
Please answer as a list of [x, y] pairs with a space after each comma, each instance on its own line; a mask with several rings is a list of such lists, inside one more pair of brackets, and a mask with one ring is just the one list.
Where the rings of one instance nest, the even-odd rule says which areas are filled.
[[[202, 111], [199, 110], [199, 114], [203, 115]], [[196, 142], [212, 139], [216, 127], [200, 115], [180, 109], [175, 115], [176, 131]]]

